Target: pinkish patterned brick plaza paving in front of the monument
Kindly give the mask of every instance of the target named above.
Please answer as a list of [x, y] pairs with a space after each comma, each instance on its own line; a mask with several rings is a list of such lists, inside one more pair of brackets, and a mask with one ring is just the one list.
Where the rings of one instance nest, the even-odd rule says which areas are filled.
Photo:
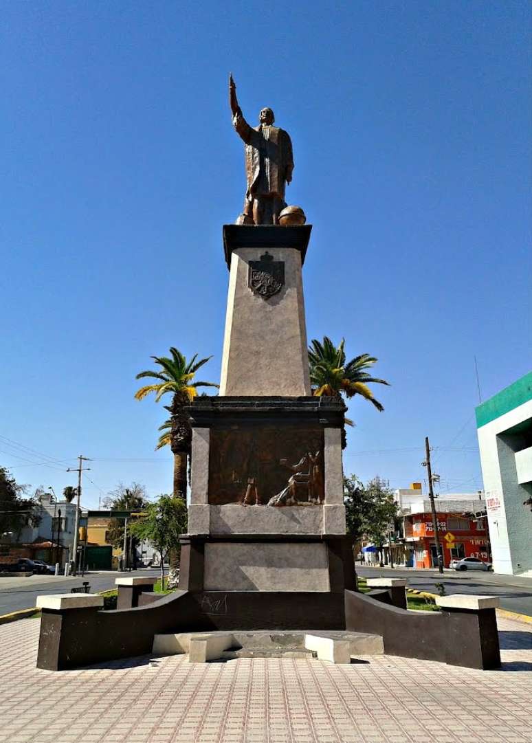
[[51, 672], [35, 667], [39, 620], [21, 620], [0, 626], [0, 741], [525, 743], [531, 629], [499, 620], [502, 671], [392, 656], [334, 666], [175, 655]]

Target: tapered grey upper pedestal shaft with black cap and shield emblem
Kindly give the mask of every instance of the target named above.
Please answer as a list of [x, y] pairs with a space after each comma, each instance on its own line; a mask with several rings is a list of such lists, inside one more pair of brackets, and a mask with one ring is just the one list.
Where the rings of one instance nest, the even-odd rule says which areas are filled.
[[[311, 394], [301, 273], [310, 234], [310, 226], [224, 228], [230, 279], [221, 396]], [[276, 282], [271, 296], [260, 273]]]

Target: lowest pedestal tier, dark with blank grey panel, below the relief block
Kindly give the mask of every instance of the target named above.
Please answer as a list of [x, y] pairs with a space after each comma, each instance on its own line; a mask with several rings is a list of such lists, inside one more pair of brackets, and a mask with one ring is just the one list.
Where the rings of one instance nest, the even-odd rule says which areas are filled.
[[181, 537], [179, 588], [217, 629], [343, 629], [356, 589], [346, 536]]

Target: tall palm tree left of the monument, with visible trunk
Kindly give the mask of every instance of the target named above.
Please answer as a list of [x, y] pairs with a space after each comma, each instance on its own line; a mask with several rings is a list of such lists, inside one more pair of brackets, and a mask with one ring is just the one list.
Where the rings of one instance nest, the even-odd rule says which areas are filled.
[[198, 354], [195, 354], [191, 360], [187, 361], [184, 354], [177, 348], [170, 348], [171, 357], [152, 356], [155, 363], [158, 363], [158, 371], [140, 371], [136, 379], [143, 377], [152, 377], [158, 380], [154, 384], [140, 387], [135, 393], [137, 400], [142, 400], [151, 392], [155, 392], [155, 402], [166, 393], [172, 395], [172, 403], [165, 406], [170, 412], [170, 418], [166, 423], [160, 426], [159, 430], [163, 431], [160, 435], [157, 449], [169, 445], [174, 455], [174, 488], [173, 494], [176, 498], [181, 497], [186, 500], [186, 464], [191, 449], [192, 429], [190, 428], [189, 418], [185, 412], [185, 406], [189, 405], [198, 395], [198, 387], [218, 387], [213, 382], [193, 382], [193, 377], [201, 366], [210, 360], [206, 359], [197, 361]]

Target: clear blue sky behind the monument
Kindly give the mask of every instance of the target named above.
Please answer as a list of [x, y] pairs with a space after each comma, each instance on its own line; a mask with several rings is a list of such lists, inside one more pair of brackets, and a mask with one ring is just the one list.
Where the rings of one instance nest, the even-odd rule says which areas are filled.
[[219, 380], [233, 71], [247, 118], [271, 106], [293, 140], [309, 338], [392, 383], [385, 412], [351, 404], [346, 472], [406, 487], [429, 435], [442, 492], [481, 487], [473, 356], [483, 399], [532, 367], [530, 7], [4, 3], [0, 464], [59, 492], [82, 452], [93, 507], [117, 481], [170, 490], [134, 374], [177, 345]]

